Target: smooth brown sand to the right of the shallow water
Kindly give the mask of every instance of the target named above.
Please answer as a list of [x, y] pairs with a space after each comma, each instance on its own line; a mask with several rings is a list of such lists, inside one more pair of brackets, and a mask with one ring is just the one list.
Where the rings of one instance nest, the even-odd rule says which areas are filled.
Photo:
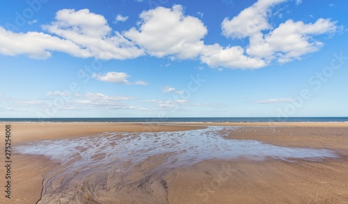
[[243, 124], [226, 137], [327, 148], [336, 150], [340, 158], [316, 162], [206, 160], [171, 172], [175, 179], [169, 185], [170, 203], [348, 203], [347, 123], [253, 125]]

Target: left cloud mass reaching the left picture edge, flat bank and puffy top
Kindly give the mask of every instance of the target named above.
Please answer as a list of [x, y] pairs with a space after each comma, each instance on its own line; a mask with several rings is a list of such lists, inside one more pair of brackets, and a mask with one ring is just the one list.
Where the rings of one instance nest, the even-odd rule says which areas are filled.
[[52, 51], [61, 51], [79, 58], [104, 60], [124, 60], [144, 54], [143, 49], [119, 32], [112, 33], [102, 15], [88, 9], [59, 10], [56, 21], [43, 28], [56, 36], [39, 32], [13, 33], [0, 27], [0, 53], [49, 58]]

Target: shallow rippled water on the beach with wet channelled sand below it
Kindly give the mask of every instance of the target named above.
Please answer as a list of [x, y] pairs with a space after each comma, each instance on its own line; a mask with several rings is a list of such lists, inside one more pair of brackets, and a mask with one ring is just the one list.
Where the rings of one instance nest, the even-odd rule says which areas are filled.
[[31, 142], [17, 146], [16, 150], [46, 155], [62, 163], [61, 168], [45, 174], [39, 203], [167, 203], [166, 173], [202, 160], [338, 157], [326, 149], [225, 139], [223, 134], [233, 129], [103, 133], [96, 137]]

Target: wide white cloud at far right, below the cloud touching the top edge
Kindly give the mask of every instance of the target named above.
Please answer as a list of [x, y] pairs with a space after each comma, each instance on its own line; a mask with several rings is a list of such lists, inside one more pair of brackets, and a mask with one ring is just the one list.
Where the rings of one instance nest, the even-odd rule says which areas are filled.
[[246, 52], [258, 58], [288, 62], [319, 50], [323, 43], [313, 40], [310, 35], [333, 33], [336, 30], [335, 22], [329, 19], [318, 19], [314, 24], [287, 20], [264, 37], [255, 35]]

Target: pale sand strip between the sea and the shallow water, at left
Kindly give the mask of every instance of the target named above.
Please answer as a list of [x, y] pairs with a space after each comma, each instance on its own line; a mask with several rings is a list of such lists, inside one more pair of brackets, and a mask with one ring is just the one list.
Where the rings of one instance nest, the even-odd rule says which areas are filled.
[[[4, 124], [4, 123], [3, 123]], [[11, 123], [7, 123], [11, 124]], [[204, 126], [166, 126], [161, 124], [134, 123], [12, 123], [13, 142], [30, 142], [42, 139], [86, 137], [104, 132], [161, 132], [205, 128]]]

